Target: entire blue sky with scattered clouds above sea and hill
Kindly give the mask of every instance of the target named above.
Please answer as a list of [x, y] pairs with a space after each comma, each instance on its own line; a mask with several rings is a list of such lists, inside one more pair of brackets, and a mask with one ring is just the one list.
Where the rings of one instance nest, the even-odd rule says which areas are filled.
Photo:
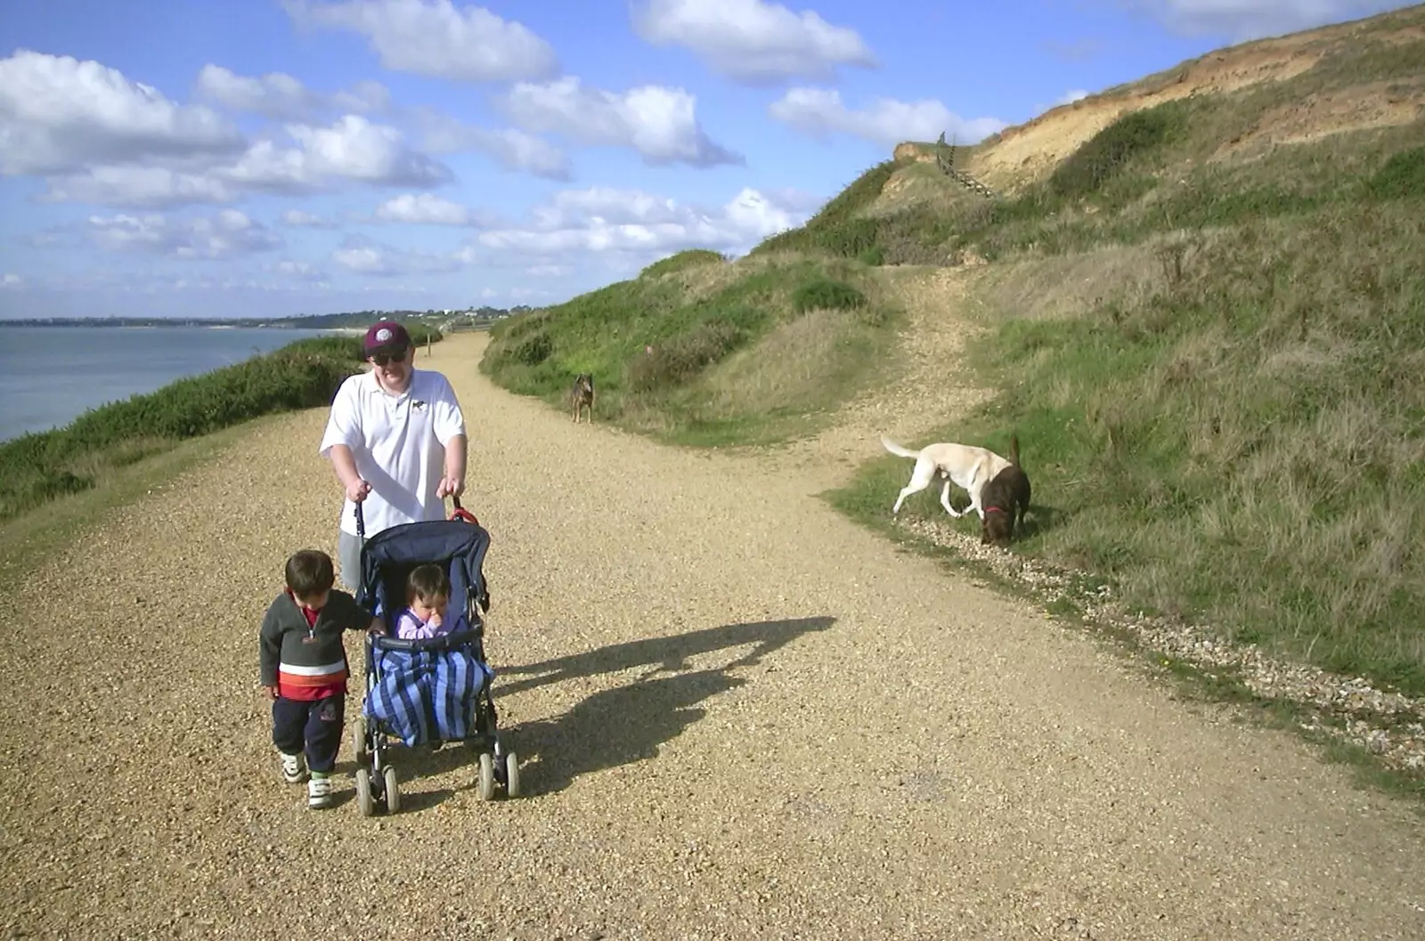
[[559, 302], [902, 140], [1379, 0], [44, 0], [0, 17], [0, 317]]

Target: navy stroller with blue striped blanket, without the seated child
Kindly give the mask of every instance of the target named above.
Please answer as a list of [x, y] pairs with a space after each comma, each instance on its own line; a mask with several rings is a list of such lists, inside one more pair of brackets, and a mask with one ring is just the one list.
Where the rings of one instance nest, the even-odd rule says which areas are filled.
[[[352, 725], [356, 755], [356, 804], [363, 817], [378, 801], [388, 813], [400, 809], [395, 743], [408, 747], [465, 742], [479, 762], [480, 800], [494, 797], [499, 783], [509, 797], [519, 797], [519, 759], [500, 742], [493, 671], [484, 661], [484, 619], [490, 594], [484, 582], [484, 554], [490, 534], [455, 498], [449, 520], [408, 522], [366, 540], [366, 524], [356, 504], [356, 535], [362, 541], [361, 585], [356, 601], [386, 622], [386, 636], [366, 635], [365, 696]], [[402, 639], [396, 619], [405, 608], [410, 569], [428, 562], [446, 569], [450, 579], [453, 621], [449, 634]]]

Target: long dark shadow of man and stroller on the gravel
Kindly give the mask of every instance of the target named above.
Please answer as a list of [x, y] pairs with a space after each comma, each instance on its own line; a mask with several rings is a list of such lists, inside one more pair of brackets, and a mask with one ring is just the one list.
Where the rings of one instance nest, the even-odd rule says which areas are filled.
[[[654, 757], [660, 745], [707, 715], [707, 709], [698, 708], [700, 702], [748, 682], [732, 676], [731, 671], [752, 666], [795, 638], [825, 631], [835, 622], [835, 618], [799, 618], [731, 624], [500, 671], [504, 676], [537, 675], [497, 686], [499, 695], [509, 695], [512, 689], [532, 689], [576, 676], [643, 665], [654, 668], [626, 686], [594, 693], [557, 719], [522, 723], [514, 733], [523, 790], [527, 794], [553, 793], [580, 774]], [[725, 666], [691, 672], [687, 666], [691, 656], [747, 643], [755, 645], [752, 651]], [[539, 760], [524, 767], [536, 757]]]

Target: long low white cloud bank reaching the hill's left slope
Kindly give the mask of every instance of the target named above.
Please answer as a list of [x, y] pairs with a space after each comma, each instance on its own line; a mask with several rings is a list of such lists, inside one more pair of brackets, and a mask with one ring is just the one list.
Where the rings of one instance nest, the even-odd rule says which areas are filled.
[[570, 252], [657, 256], [687, 248], [740, 253], [805, 218], [757, 189], [705, 209], [643, 191], [596, 186], [560, 192], [532, 212], [527, 225], [487, 229], [475, 243], [523, 259], [564, 259]]

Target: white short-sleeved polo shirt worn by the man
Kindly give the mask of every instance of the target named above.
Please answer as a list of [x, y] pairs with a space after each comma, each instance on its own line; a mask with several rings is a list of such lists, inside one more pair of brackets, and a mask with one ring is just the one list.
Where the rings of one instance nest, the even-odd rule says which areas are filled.
[[[445, 518], [436, 487], [445, 475], [445, 446], [465, 434], [465, 416], [450, 382], [415, 369], [406, 391], [395, 396], [373, 372], [349, 376], [336, 390], [322, 434], [321, 454], [345, 444], [356, 473], [370, 484], [362, 503], [366, 535], [402, 522]], [[356, 534], [355, 504], [342, 504], [341, 528]]]

